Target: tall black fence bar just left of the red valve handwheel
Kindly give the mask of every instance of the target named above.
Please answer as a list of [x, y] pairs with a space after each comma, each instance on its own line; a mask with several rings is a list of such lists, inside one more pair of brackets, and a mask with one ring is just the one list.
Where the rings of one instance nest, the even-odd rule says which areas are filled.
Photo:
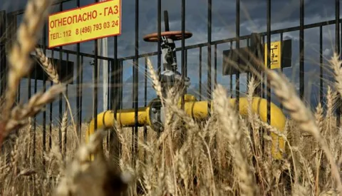
[[[135, 155], [138, 155], [138, 83], [139, 83], [139, 0], [135, 0], [135, 63], [134, 67], [134, 148]], [[135, 162], [133, 163], [135, 165]]]

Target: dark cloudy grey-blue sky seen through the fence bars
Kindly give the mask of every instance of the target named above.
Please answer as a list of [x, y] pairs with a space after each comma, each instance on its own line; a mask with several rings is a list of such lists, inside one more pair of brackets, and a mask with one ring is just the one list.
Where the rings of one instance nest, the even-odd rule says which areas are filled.
[[[24, 9], [27, 0], [2, 0], [0, 10], [6, 12]], [[82, 0], [81, 6], [92, 4], [94, 1]], [[181, 30], [181, 2], [182, 1], [162, 1], [162, 12], [168, 11], [170, 30]], [[335, 19], [335, 7], [333, 0], [306, 0], [304, 10], [304, 24], [313, 24], [322, 21]], [[63, 10], [76, 8], [76, 1], [68, 1], [63, 4]], [[241, 0], [240, 3], [240, 36], [249, 35], [253, 32], [266, 31], [266, 0]], [[60, 7], [53, 6], [52, 13], [58, 12]], [[18, 16], [19, 21], [22, 16]], [[139, 53], [148, 53], [157, 51], [157, 43], [147, 43], [142, 40], [143, 36], [148, 33], [157, 32], [157, 0], [144, 0], [139, 2], [139, 28], [138, 28], [138, 44]], [[233, 38], [236, 31], [236, 3], [235, 0], [212, 0], [212, 41], [218, 41], [224, 38]], [[162, 18], [163, 21], [163, 18]], [[273, 0], [271, 1], [271, 30], [284, 29], [299, 26], [299, 0]], [[193, 33], [192, 38], [185, 40], [185, 46], [197, 43], [205, 43], [207, 41], [207, 0], [187, 0], [185, 5], [185, 29]], [[135, 0], [125, 0], [122, 2], [122, 33], [118, 36], [118, 57], [133, 56], [135, 54]], [[162, 31], [164, 25], [162, 23]], [[284, 33], [284, 39], [291, 39], [291, 67], [284, 68], [284, 73], [299, 90], [299, 31]], [[113, 37], [108, 38], [108, 57], [113, 58]], [[279, 41], [280, 34], [271, 36], [271, 41]], [[41, 42], [43, 43], [43, 42]], [[323, 27], [323, 58], [330, 58], [335, 48], [335, 25]], [[176, 46], [180, 47], [181, 42], [177, 41]], [[246, 46], [246, 41], [241, 41], [240, 47]], [[222, 51], [229, 49], [229, 43], [217, 45], [217, 81], [229, 88], [230, 76], [222, 76]], [[233, 44], [233, 48], [234, 48]], [[76, 44], [63, 46], [63, 48], [76, 51]], [[212, 51], [214, 46], [212, 46]], [[305, 96], [306, 101], [313, 108], [318, 100], [319, 85], [319, 29], [307, 29], [304, 31], [304, 66], [305, 66]], [[81, 52], [93, 53], [94, 41], [81, 43]], [[51, 51], [47, 51], [46, 55], [51, 57]], [[101, 55], [101, 53], [100, 53]], [[54, 58], [59, 58], [59, 53], [54, 52]], [[76, 56], [69, 55], [69, 61], [76, 63]], [[63, 60], [66, 60], [66, 54], [63, 54]], [[88, 121], [93, 115], [93, 66], [90, 66], [91, 58], [83, 58], [83, 120]], [[157, 56], [151, 57], [153, 66], [157, 68]], [[178, 68], [181, 68], [181, 53], [177, 52]], [[125, 61], [123, 71], [123, 108], [130, 108], [132, 105], [133, 85], [132, 70], [133, 62]], [[105, 110], [103, 108], [102, 96], [102, 62], [99, 66], [99, 95], [98, 95], [98, 113]], [[199, 48], [187, 51], [187, 74], [190, 77], [192, 86], [190, 93], [199, 98]], [[76, 68], [74, 69], [74, 72]], [[144, 74], [145, 60], [139, 60], [139, 105], [143, 106], [144, 100]], [[331, 71], [328, 70], [328, 64], [324, 65], [324, 81], [331, 77]], [[232, 76], [235, 81], [235, 76]], [[76, 73], [74, 73], [74, 83], [68, 85], [68, 96], [71, 107], [76, 111]], [[246, 92], [246, 74], [240, 76], [241, 96]], [[214, 52], [212, 52], [212, 81], [214, 81]], [[235, 83], [233, 82], [233, 86]], [[31, 81], [32, 93], [34, 81]], [[207, 47], [202, 48], [202, 92], [206, 92], [207, 86]], [[37, 81], [37, 89], [42, 89], [42, 82]], [[234, 92], [233, 92], [234, 94]], [[147, 103], [156, 94], [151, 87], [150, 78], [147, 80]], [[28, 98], [27, 80], [21, 82], [21, 102], [26, 102]], [[202, 99], [206, 98], [206, 94], [202, 93]], [[275, 96], [272, 101], [278, 103]], [[63, 100], [63, 110], [65, 102]], [[49, 106], [48, 106], [49, 110]], [[58, 100], [53, 103], [53, 122], [58, 123]], [[75, 112], [76, 113], [76, 112]], [[41, 115], [38, 116], [41, 119]]]

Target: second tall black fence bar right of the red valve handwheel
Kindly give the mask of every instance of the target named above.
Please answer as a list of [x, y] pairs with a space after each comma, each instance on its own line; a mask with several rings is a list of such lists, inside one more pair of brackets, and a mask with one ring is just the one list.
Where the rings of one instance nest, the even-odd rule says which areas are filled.
[[[237, 16], [236, 16], [236, 21], [235, 21], [235, 25], [236, 25], [236, 37], [237, 37], [237, 41], [236, 41], [236, 48], [237, 51], [239, 51], [240, 48], [240, 40], [239, 40], [239, 36], [240, 36], [240, 0], [237, 0]], [[240, 58], [239, 55], [237, 56], [237, 64], [239, 65], [240, 63]], [[235, 75], [235, 94], [236, 94], [236, 105], [237, 105], [237, 110], [239, 111], [239, 98], [240, 98], [240, 71], [239, 68], [237, 68], [237, 74]]]

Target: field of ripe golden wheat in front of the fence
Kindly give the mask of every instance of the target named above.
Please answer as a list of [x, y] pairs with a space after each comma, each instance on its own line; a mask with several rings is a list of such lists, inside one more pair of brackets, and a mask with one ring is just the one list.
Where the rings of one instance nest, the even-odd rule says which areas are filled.
[[[247, 116], [237, 113], [229, 103], [227, 90], [218, 84], [212, 93], [212, 115], [197, 122], [178, 107], [181, 95], [177, 86], [167, 96], [162, 95], [159, 78], [147, 58], [149, 77], [167, 112], [160, 135], [147, 127], [144, 140], [140, 128], [137, 157], [132, 157], [130, 128], [115, 125], [97, 130], [90, 142], [84, 143], [88, 124], [83, 124], [82, 137], [78, 138], [73, 120], [68, 120], [73, 113], [70, 110], [65, 111], [61, 124], [52, 128], [46, 143], [41, 139], [41, 127], [36, 128], [33, 139], [33, 117], [66, 91], [56, 67], [41, 48], [36, 48], [50, 6], [48, 0], [28, 1], [9, 52], [9, 88], [1, 100], [0, 195], [341, 194], [342, 132], [334, 113], [336, 100], [342, 96], [342, 61], [338, 55], [329, 61], [335, 78], [328, 86], [326, 105], [318, 104], [316, 110], [306, 106], [283, 74], [260, 62], [290, 115], [284, 132], [252, 112], [256, 78], [248, 84]], [[31, 68], [31, 52], [36, 53], [54, 85], [27, 103], [14, 105], [19, 81]], [[58, 143], [59, 128], [62, 138], [67, 138], [66, 145], [63, 140]], [[271, 156], [271, 137], [261, 130], [284, 138], [282, 160]], [[93, 161], [90, 155], [95, 156]]]

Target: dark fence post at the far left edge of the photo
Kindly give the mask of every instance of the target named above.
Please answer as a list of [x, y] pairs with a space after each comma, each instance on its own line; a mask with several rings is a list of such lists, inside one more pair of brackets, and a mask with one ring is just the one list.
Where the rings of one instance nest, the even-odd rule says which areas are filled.
[[0, 11], [0, 78], [1, 78], [1, 86], [0, 86], [0, 96], [3, 96], [3, 93], [6, 88], [6, 11]]

